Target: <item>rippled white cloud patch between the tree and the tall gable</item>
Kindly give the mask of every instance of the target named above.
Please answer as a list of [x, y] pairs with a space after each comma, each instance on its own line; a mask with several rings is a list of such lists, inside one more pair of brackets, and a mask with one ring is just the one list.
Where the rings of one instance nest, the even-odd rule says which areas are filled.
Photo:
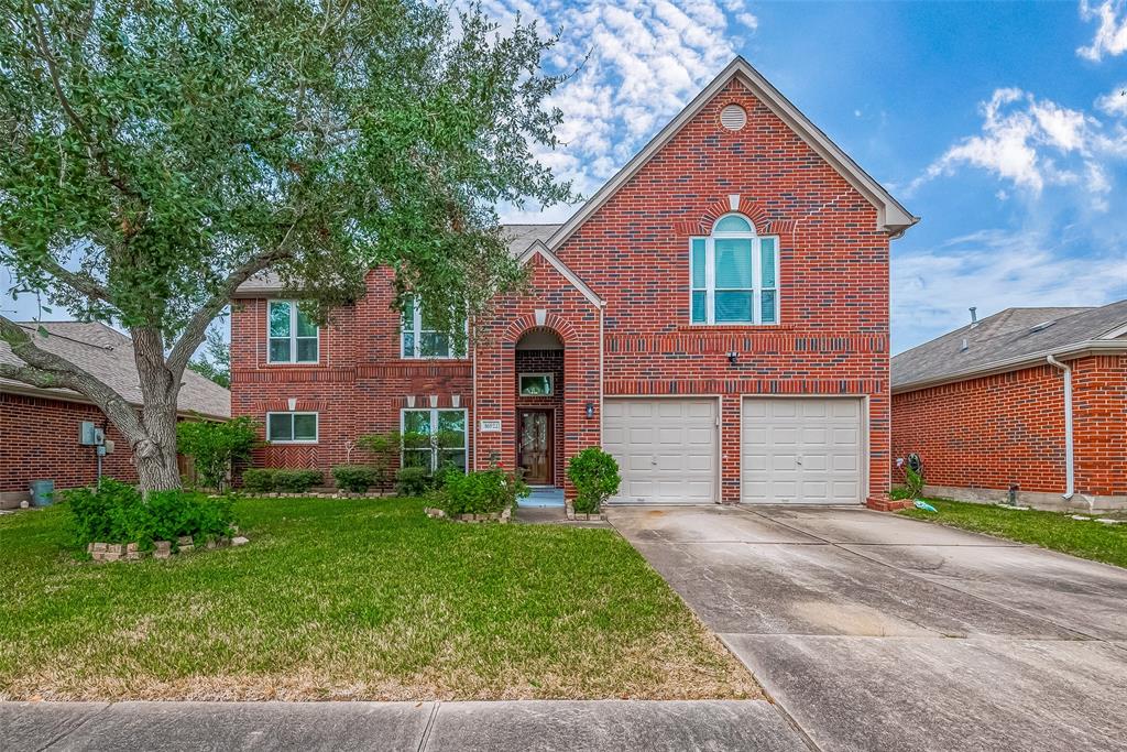
[[[565, 147], [539, 153], [558, 177], [589, 197], [736, 55], [737, 35], [758, 19], [746, 0], [488, 0], [503, 24], [538, 19], [562, 29], [549, 64], [583, 63], [550, 100], [564, 113]], [[586, 59], [586, 62], [584, 60]], [[552, 221], [574, 207], [547, 212], [503, 209], [505, 221]]]

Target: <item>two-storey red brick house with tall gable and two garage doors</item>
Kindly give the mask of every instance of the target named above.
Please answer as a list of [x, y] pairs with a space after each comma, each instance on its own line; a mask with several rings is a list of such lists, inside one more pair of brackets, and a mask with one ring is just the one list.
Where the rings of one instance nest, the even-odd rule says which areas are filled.
[[[917, 221], [743, 59], [561, 225], [508, 228], [525, 294], [450, 357], [391, 273], [319, 331], [269, 275], [238, 292], [232, 413], [256, 461], [360, 459], [402, 427], [567, 487], [602, 445], [620, 502], [887, 506], [889, 241]], [[268, 326], [272, 321], [273, 330]]]

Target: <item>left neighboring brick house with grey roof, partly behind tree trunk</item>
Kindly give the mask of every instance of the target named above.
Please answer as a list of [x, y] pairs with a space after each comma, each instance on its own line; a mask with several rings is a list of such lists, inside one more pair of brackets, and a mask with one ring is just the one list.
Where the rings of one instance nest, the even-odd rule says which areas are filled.
[[[47, 337], [37, 340], [101, 379], [117, 393], [140, 406], [133, 345], [128, 337], [103, 324], [79, 321], [25, 322], [29, 331], [39, 326]], [[21, 365], [8, 345], [0, 343], [0, 363]], [[230, 393], [198, 373], [187, 371], [180, 388], [180, 414], [208, 418], [230, 417]], [[92, 422], [105, 431], [114, 451], [103, 458], [103, 475], [136, 481], [128, 442], [106, 415], [69, 389], [38, 389], [0, 379], [0, 508], [18, 506], [28, 498], [33, 480], [53, 480], [55, 488], [87, 486], [98, 477], [96, 449], [79, 443], [79, 428]]]

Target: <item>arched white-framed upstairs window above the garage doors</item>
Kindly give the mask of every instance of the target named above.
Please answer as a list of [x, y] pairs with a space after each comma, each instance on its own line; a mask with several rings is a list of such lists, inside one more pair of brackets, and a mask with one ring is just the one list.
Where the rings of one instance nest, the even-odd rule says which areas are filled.
[[761, 238], [740, 214], [690, 240], [692, 324], [778, 324], [779, 239]]

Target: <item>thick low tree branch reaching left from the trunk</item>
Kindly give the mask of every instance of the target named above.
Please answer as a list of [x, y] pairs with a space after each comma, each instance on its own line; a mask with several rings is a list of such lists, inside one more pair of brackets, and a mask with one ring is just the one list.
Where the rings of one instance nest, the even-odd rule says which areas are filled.
[[26, 328], [0, 316], [0, 342], [27, 365], [0, 363], [0, 377], [41, 389], [72, 389], [83, 395], [105, 413], [131, 443], [144, 435], [136, 409], [104, 381], [71, 361], [43, 350]]

